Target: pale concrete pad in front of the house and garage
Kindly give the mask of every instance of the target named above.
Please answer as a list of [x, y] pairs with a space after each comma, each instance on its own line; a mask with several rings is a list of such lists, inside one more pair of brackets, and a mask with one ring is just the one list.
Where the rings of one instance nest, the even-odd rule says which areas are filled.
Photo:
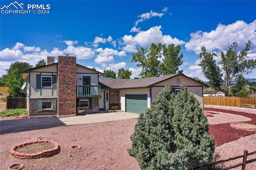
[[60, 121], [62, 121], [66, 125], [84, 125], [84, 124], [90, 124], [90, 123], [134, 119], [134, 118], [138, 118], [139, 116], [140, 114], [127, 113], [127, 112], [98, 113], [98, 114], [90, 114], [90, 115], [75, 116], [75, 117], [64, 117], [64, 118], [60, 118]]

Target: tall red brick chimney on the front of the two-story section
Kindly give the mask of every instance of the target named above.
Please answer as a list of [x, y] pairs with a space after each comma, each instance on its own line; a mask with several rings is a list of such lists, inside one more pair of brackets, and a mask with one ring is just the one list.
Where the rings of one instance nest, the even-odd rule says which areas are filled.
[[76, 57], [58, 56], [58, 117], [76, 116]]

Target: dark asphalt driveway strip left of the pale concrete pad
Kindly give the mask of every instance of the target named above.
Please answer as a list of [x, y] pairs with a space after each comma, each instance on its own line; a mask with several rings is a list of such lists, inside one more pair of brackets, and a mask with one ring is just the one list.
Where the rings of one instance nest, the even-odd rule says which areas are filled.
[[56, 117], [12, 119], [0, 121], [0, 134], [60, 127], [64, 125], [66, 124]]

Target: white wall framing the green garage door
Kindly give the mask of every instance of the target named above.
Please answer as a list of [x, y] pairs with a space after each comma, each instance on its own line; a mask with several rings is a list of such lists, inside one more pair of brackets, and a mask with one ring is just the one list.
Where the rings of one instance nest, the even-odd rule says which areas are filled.
[[120, 105], [121, 110], [125, 111], [125, 95], [148, 95], [148, 108], [151, 106], [151, 99], [150, 99], [150, 88], [141, 88], [141, 89], [120, 89], [119, 96], [120, 96]]

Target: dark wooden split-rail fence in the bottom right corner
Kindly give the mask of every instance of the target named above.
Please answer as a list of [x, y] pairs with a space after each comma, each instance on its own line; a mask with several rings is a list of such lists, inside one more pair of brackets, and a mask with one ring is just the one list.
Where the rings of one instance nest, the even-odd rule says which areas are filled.
[[245, 167], [246, 167], [246, 164], [249, 164], [249, 163], [252, 163], [252, 162], [255, 162], [256, 161], [256, 158], [255, 159], [250, 159], [250, 160], [247, 160], [247, 156], [249, 155], [253, 155], [253, 154], [256, 154], [256, 151], [254, 152], [251, 152], [251, 153], [248, 153], [248, 150], [244, 150], [244, 154], [243, 155], [240, 155], [240, 156], [236, 156], [236, 157], [233, 157], [233, 158], [228, 158], [226, 160], [219, 160], [217, 162], [212, 162], [212, 163], [208, 163], [208, 164], [203, 164], [201, 166], [198, 166], [194, 169], [200, 169], [202, 167], [207, 167], [207, 166], [212, 166], [212, 165], [215, 165], [215, 164], [220, 164], [222, 162], [228, 162], [230, 160], [235, 160], [235, 159], [238, 159], [238, 158], [243, 158], [243, 162], [241, 162], [240, 164], [236, 164], [236, 165], [233, 165], [233, 166], [228, 166], [226, 168], [223, 168], [221, 170], [229, 170], [229, 169], [232, 169], [232, 168], [236, 168], [236, 167], [239, 167], [239, 166], [242, 166], [242, 170], [245, 170]]

